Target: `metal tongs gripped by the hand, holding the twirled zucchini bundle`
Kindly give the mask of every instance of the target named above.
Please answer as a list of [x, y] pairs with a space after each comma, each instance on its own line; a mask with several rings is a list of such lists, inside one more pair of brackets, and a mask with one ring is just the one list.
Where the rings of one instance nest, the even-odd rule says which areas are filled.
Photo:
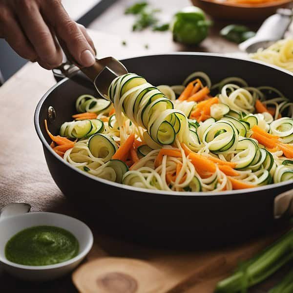
[[[128, 73], [126, 67], [113, 57], [106, 57], [103, 59], [96, 58], [96, 62], [92, 66], [83, 67], [70, 54], [66, 45], [63, 42], [60, 42], [60, 44], [67, 61], [53, 69], [54, 76], [57, 80], [68, 77], [84, 86], [93, 83], [101, 97], [105, 98], [112, 81], [116, 77]], [[79, 70], [81, 70], [87, 78], [78, 74]]]

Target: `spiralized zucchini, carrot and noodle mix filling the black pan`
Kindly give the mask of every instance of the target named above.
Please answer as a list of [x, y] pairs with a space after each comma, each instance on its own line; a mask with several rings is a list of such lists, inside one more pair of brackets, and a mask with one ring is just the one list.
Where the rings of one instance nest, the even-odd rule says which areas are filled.
[[91, 175], [195, 192], [293, 180], [293, 103], [275, 88], [237, 77], [212, 85], [203, 72], [155, 87], [129, 73], [112, 82], [107, 98], [111, 105], [79, 97], [81, 121], [60, 130], [76, 141], [59, 154]]

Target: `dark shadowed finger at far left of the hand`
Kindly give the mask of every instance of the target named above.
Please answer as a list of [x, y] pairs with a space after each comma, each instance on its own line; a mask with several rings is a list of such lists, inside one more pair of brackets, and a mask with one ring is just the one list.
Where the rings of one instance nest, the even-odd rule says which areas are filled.
[[[16, 53], [18, 53], [22, 58], [28, 59], [30, 61], [36, 61], [37, 54], [31, 43], [27, 40], [24, 35], [18, 21], [15, 19], [14, 15], [6, 8], [1, 11], [1, 37], [3, 37], [6, 42], [12, 47]], [[4, 13], [5, 9], [5, 13]]]

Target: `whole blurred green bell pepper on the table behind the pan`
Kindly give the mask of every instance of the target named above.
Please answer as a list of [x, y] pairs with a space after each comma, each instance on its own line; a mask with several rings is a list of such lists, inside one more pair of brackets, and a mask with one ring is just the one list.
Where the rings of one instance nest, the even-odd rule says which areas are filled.
[[196, 45], [208, 36], [211, 21], [203, 10], [189, 6], [175, 14], [172, 23], [173, 40], [188, 45]]

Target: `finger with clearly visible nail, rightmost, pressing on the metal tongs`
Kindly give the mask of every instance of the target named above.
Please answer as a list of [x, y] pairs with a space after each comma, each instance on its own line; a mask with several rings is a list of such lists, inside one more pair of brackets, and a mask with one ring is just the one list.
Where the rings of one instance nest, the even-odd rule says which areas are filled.
[[[48, 3], [50, 2], [50, 5]], [[46, 13], [50, 24], [53, 26], [58, 39], [61, 39], [75, 61], [84, 67], [95, 63], [95, 52], [87, 41], [90, 38], [83, 34], [78, 25], [72, 21], [59, 1], [46, 2], [45, 13], [48, 9], [54, 13]]]

